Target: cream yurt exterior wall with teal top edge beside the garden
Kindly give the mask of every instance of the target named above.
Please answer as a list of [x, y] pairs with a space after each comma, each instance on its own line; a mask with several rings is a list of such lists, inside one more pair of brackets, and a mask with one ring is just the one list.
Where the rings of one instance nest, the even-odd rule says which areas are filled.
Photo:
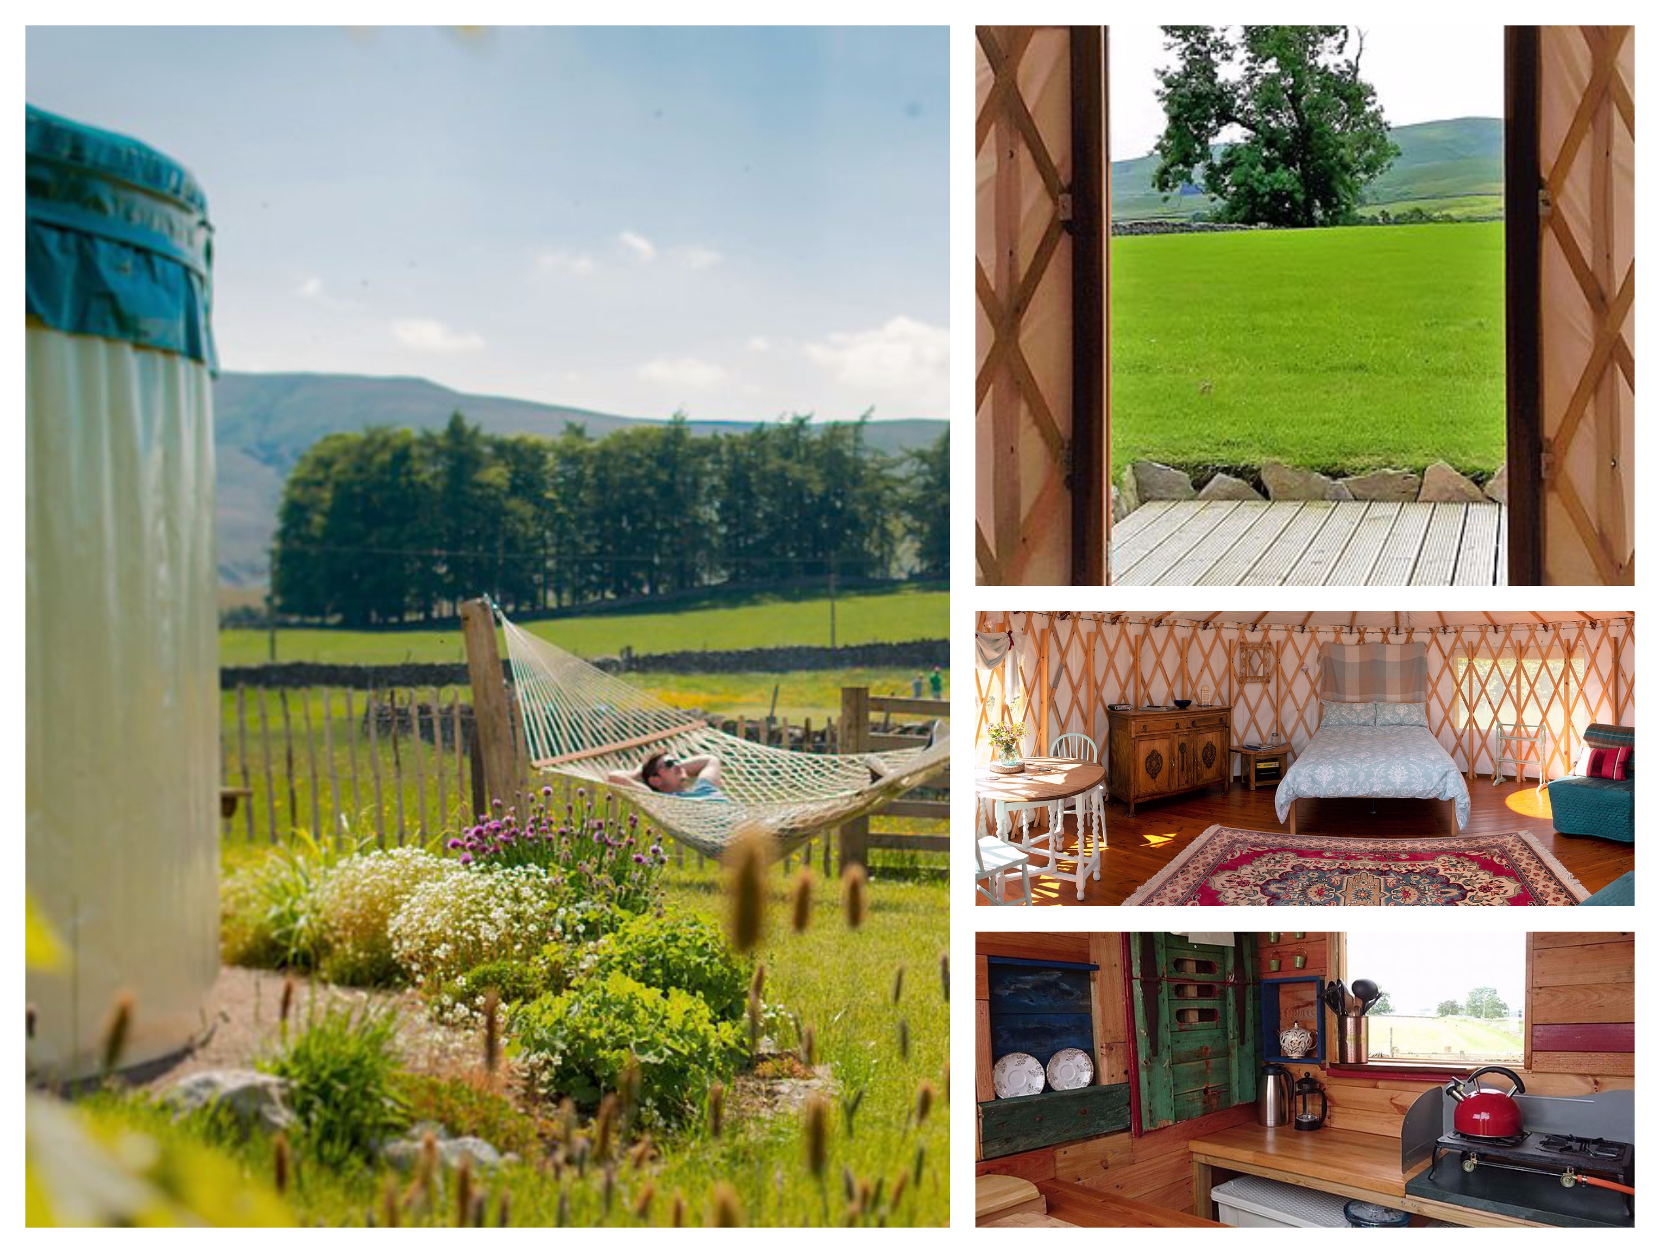
[[28, 110], [27, 881], [32, 1074], [186, 1046], [219, 973], [209, 239], [196, 181]]

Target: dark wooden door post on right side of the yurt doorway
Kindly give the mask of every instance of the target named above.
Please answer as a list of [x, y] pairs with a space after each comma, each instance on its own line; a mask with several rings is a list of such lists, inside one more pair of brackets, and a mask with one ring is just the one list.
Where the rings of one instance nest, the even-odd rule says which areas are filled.
[[1504, 466], [1511, 586], [1544, 581], [1539, 27], [1504, 28]]

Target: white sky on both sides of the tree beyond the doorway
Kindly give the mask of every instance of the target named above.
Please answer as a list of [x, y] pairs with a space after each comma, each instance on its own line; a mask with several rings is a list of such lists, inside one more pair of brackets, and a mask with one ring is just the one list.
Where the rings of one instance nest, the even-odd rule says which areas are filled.
[[[1504, 116], [1504, 27], [1365, 25], [1361, 78], [1391, 126]], [[1112, 159], [1145, 156], [1164, 129], [1155, 71], [1169, 63], [1159, 27], [1111, 27]]]

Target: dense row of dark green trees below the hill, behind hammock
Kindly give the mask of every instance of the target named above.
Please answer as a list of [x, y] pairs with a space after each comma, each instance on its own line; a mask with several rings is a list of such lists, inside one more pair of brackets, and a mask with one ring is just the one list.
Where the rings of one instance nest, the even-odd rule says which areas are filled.
[[950, 433], [903, 458], [865, 422], [591, 438], [372, 428], [309, 448], [282, 493], [272, 594], [375, 626], [491, 592], [510, 611], [722, 583], [945, 576]]

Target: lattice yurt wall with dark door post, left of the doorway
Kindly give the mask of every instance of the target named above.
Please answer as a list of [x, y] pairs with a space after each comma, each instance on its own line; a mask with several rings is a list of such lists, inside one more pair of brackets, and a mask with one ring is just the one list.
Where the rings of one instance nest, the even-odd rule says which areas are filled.
[[1106, 28], [976, 35], [978, 581], [1106, 583]]

